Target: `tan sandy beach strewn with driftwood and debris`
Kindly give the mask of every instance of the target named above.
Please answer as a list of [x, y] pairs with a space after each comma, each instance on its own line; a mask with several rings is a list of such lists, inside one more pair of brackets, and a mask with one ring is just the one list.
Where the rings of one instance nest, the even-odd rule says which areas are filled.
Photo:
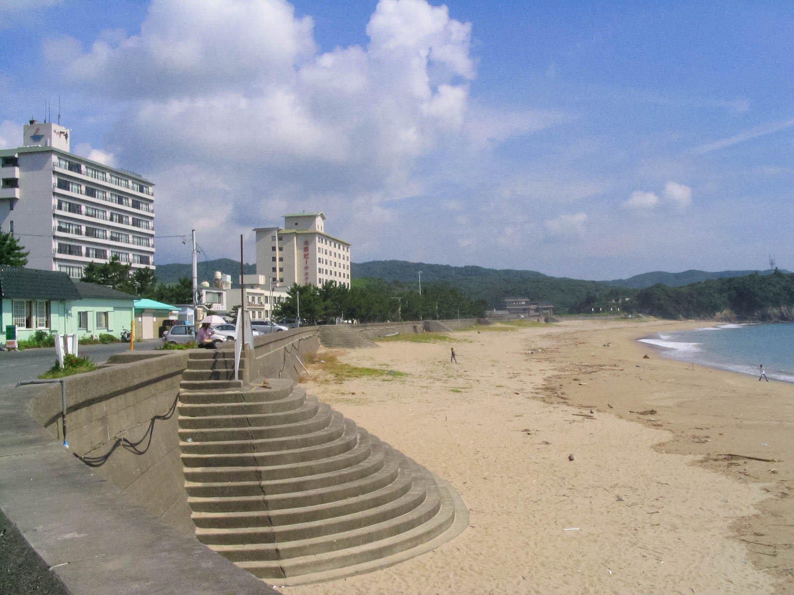
[[[792, 385], [636, 341], [706, 324], [569, 320], [321, 350], [307, 390], [451, 483], [470, 526], [399, 565], [279, 590], [794, 593]], [[405, 375], [340, 381], [330, 355]]]

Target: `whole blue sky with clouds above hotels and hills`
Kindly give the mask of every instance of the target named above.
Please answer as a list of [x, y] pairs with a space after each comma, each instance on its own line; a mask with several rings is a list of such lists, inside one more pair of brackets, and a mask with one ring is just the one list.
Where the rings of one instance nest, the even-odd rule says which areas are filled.
[[790, 269], [792, 32], [788, 2], [10, 0], [0, 146], [60, 96], [210, 259], [322, 210], [354, 262]]

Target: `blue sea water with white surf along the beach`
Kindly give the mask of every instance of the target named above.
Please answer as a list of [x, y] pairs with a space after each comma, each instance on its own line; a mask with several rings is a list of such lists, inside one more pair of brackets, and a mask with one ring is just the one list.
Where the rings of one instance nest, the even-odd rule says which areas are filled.
[[640, 339], [682, 362], [794, 382], [794, 323], [719, 324], [693, 331], [660, 332]]

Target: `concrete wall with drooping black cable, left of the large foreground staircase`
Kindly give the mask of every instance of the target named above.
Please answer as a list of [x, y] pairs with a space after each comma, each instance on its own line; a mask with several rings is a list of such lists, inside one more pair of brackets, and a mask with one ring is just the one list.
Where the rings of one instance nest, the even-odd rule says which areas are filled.
[[[179, 381], [187, 367], [187, 351], [130, 353], [111, 359], [110, 367], [64, 378], [67, 396], [66, 437], [71, 452], [93, 461], [102, 478], [133, 501], [192, 536], [175, 413]], [[30, 403], [33, 417], [63, 441], [59, 384], [39, 385]], [[169, 415], [170, 413], [170, 415]], [[156, 416], [166, 419], [154, 419]], [[139, 443], [134, 450], [126, 439]]]

